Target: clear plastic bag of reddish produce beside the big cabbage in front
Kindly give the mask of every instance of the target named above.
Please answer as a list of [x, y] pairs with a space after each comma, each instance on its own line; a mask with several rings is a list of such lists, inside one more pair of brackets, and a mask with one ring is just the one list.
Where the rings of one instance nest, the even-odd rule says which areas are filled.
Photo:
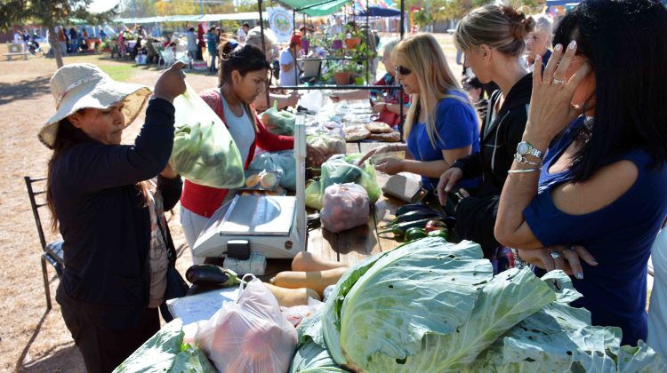
[[229, 373], [283, 373], [297, 342], [296, 329], [257, 279], [199, 327], [196, 341], [219, 371]]

